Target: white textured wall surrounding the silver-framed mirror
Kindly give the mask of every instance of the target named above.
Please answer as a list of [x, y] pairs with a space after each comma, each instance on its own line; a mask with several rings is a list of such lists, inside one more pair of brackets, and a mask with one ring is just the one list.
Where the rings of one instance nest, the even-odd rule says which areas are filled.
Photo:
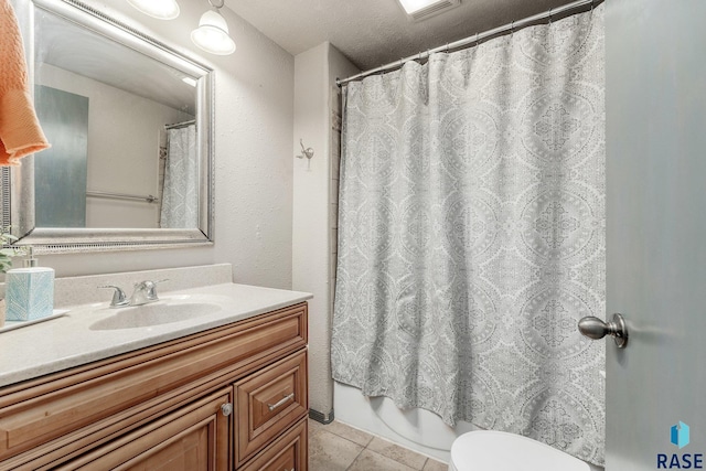
[[[11, 0], [22, 15], [28, 0]], [[153, 35], [215, 69], [215, 245], [212, 247], [44, 256], [57, 276], [233, 264], [237, 282], [291, 287], [293, 57], [224, 8], [237, 51], [201, 53], [190, 32], [206, 1], [180, 2], [181, 15], [153, 20], [127, 2], [90, 7]]]

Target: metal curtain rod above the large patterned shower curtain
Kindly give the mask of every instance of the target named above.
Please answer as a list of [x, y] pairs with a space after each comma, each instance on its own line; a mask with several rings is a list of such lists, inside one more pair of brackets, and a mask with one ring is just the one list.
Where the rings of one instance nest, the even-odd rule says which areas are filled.
[[603, 0], [576, 0], [576, 1], [571, 2], [571, 3], [567, 3], [567, 4], [564, 4], [561, 7], [549, 9], [548, 11], [545, 11], [544, 13], [537, 13], [537, 14], [534, 14], [532, 17], [527, 17], [524, 20], [513, 21], [512, 23], [507, 23], [505, 25], [494, 28], [492, 30], [485, 31], [484, 33], [473, 34], [472, 36], [468, 36], [468, 38], [464, 38], [462, 40], [459, 40], [459, 41], [456, 41], [456, 42], [452, 42], [452, 43], [448, 43], [446, 45], [442, 45], [442, 46], [439, 46], [439, 47], [435, 47], [432, 50], [428, 50], [426, 52], [420, 52], [418, 54], [410, 55], [409, 57], [400, 58], [399, 61], [391, 62], [389, 64], [381, 65], [379, 67], [376, 67], [376, 68], [371, 68], [370, 71], [361, 72], [360, 74], [353, 75], [353, 76], [347, 77], [347, 78], [343, 78], [343, 79], [336, 78], [335, 79], [335, 84], [338, 86], [343, 86], [343, 85], [347, 84], [349, 82], [357, 81], [359, 78], [367, 77], [368, 75], [377, 74], [379, 72], [393, 71], [395, 68], [402, 67], [406, 62], [409, 62], [409, 61], [421, 61], [421, 60], [427, 58], [431, 54], [437, 53], [437, 52], [441, 52], [441, 51], [447, 51], [448, 52], [449, 50], [461, 49], [461, 47], [467, 46], [469, 44], [478, 43], [479, 41], [482, 41], [482, 40], [484, 40], [486, 38], [495, 36], [498, 34], [505, 33], [505, 32], [509, 32], [509, 31], [515, 31], [515, 30], [524, 28], [524, 26], [526, 26], [528, 24], [536, 23], [536, 22], [539, 22], [542, 20], [550, 19], [555, 14], [561, 14], [561, 13], [574, 11], [574, 10], [578, 10], [578, 9], [580, 9], [582, 7], [587, 7], [589, 4], [592, 8], [595, 4], [598, 4], [601, 1], [603, 1]]

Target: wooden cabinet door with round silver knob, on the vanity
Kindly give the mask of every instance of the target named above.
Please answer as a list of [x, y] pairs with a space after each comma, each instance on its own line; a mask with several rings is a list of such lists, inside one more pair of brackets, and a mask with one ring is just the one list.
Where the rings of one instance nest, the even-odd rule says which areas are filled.
[[[111, 441], [61, 470], [227, 470], [232, 402], [223, 389]], [[231, 409], [232, 410], [232, 409]]]

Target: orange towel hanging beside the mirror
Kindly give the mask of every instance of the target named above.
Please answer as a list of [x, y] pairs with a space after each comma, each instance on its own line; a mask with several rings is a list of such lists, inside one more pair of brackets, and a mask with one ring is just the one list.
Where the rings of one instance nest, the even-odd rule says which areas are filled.
[[0, 165], [50, 147], [32, 104], [20, 28], [10, 0], [0, 0]]

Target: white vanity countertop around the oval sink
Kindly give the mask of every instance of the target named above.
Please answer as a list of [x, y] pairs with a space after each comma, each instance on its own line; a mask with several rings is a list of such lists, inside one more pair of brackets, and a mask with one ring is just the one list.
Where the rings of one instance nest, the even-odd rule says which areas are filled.
[[61, 318], [0, 332], [0, 387], [248, 319], [312, 295], [224, 283], [160, 292], [160, 298], [163, 301], [146, 306], [206, 300], [222, 310], [150, 327], [96, 330], [98, 322], [109, 323], [122, 309], [139, 308], [110, 309], [108, 302], [67, 307], [69, 312]]

